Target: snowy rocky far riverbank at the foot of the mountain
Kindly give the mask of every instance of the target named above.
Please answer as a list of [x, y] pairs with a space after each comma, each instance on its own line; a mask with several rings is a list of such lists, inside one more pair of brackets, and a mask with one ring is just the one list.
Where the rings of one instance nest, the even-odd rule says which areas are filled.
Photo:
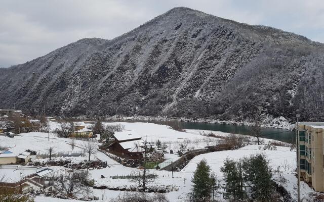
[[[217, 124], [227, 124], [227, 125], [240, 125], [240, 126], [253, 126], [253, 123], [249, 120], [237, 121], [237, 120], [219, 120], [219, 119], [209, 119], [209, 118], [174, 118], [167, 116], [132, 116], [125, 117], [115, 115], [112, 117], [106, 117], [105, 120], [114, 120], [114, 121], [128, 121], [128, 120], [142, 120], [142, 121], [180, 121], [180, 122], [195, 122], [195, 123], [217, 123]], [[293, 130], [295, 124], [290, 123], [285, 117], [273, 118], [271, 116], [266, 117], [262, 123], [262, 127], [265, 128], [277, 128], [277, 129], [286, 129]]]

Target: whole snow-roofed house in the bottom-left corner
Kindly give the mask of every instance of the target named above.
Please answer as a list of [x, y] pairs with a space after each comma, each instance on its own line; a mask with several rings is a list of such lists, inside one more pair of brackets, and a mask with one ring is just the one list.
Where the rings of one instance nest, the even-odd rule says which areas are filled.
[[47, 180], [52, 172], [48, 168], [2, 165], [0, 173], [4, 175], [4, 180], [0, 182], [0, 187], [19, 188], [23, 193], [52, 190], [52, 185]]

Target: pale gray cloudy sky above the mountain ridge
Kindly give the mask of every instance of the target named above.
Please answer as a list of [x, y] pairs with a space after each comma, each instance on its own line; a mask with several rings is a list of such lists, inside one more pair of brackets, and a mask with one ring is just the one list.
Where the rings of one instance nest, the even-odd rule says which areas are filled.
[[0, 67], [81, 38], [112, 39], [180, 6], [324, 42], [323, 0], [0, 0]]

